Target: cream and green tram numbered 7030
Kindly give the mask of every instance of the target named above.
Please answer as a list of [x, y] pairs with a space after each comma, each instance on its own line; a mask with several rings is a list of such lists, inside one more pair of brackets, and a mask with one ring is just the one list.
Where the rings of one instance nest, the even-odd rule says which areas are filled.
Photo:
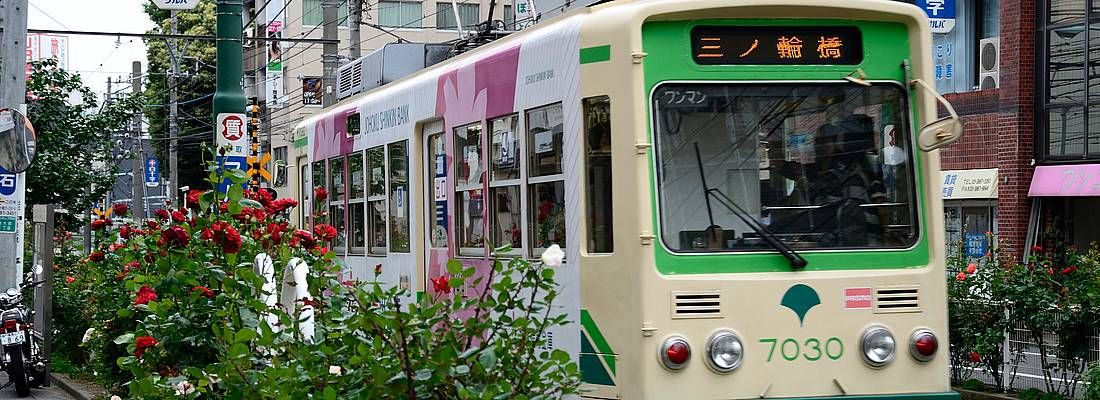
[[902, 2], [605, 2], [306, 119], [292, 185], [411, 293], [561, 246], [586, 398], [954, 399], [930, 53]]

